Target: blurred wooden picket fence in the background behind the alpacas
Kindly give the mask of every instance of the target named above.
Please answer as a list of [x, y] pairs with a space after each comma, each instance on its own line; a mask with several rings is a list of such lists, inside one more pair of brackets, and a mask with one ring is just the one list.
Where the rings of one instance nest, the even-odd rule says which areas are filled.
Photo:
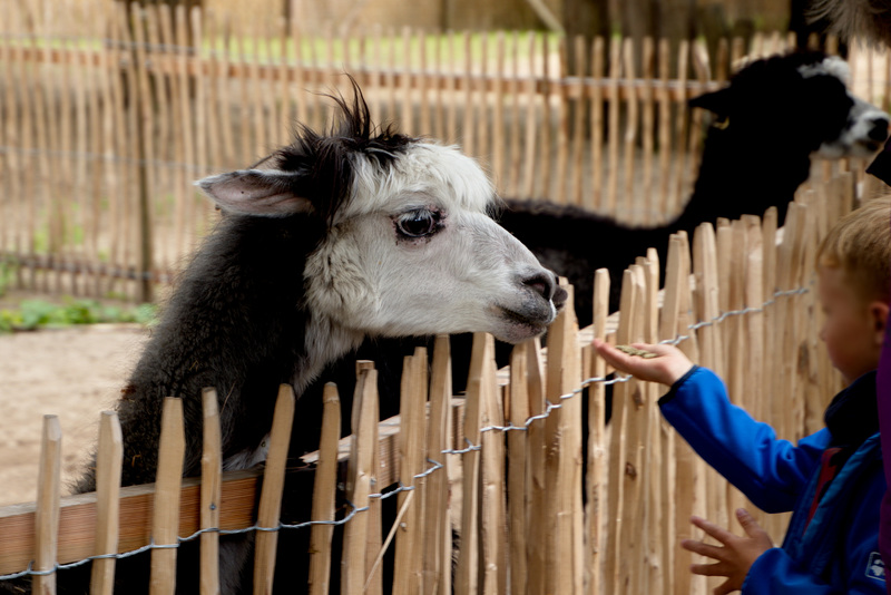
[[[376, 121], [460, 144], [502, 196], [658, 224], [697, 170], [703, 114], [687, 99], [741, 56], [786, 47], [781, 35], [711, 57], [697, 42], [538, 32], [312, 36], [167, 3], [0, 2], [0, 274], [151, 299], [217, 221], [193, 182], [257, 162], [295, 123], [324, 128], [322, 94], [349, 97], [344, 74]], [[887, 107], [888, 55], [854, 45], [851, 59], [854, 90]]]

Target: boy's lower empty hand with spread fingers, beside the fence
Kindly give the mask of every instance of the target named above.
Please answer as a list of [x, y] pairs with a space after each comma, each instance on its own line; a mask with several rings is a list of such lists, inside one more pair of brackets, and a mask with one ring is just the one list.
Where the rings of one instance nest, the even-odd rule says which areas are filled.
[[693, 517], [691, 519], [694, 525], [717, 539], [723, 547], [693, 539], [681, 542], [681, 547], [684, 549], [717, 560], [715, 564], [694, 564], [691, 566], [693, 574], [727, 577], [724, 583], [715, 588], [715, 595], [724, 595], [725, 593], [742, 589], [748, 569], [758, 556], [773, 547], [767, 533], [761, 528], [745, 509], [740, 508], [736, 510], [736, 518], [745, 530], [745, 537], [738, 537], [703, 518]]

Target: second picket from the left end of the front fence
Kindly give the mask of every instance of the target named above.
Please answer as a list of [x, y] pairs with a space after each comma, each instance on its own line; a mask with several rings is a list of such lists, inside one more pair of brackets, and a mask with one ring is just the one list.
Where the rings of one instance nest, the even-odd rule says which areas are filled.
[[[120, 527], [120, 465], [124, 438], [120, 421], [114, 411], [102, 411], [99, 420], [99, 447], [96, 453], [96, 555], [118, 552]], [[115, 588], [115, 558], [92, 563], [90, 593], [111, 595]]]

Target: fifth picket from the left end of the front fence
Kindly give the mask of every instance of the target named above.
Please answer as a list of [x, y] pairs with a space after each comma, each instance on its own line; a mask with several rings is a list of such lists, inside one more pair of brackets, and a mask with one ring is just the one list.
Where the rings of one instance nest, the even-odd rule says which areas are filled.
[[[271, 594], [275, 572], [275, 547], [278, 544], [281, 524], [282, 490], [287, 467], [287, 448], [291, 443], [291, 427], [294, 421], [294, 389], [291, 384], [278, 387], [275, 400], [270, 451], [263, 471], [263, 490], [260, 492], [256, 535], [256, 557], [254, 559], [254, 594]], [[271, 530], [262, 530], [271, 529]]]

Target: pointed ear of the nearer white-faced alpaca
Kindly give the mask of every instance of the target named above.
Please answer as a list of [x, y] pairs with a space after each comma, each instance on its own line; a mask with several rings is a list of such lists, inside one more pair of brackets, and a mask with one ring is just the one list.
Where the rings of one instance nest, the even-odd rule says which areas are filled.
[[274, 169], [238, 169], [195, 183], [224, 211], [262, 217], [310, 213], [309, 198], [298, 196], [303, 176]]

